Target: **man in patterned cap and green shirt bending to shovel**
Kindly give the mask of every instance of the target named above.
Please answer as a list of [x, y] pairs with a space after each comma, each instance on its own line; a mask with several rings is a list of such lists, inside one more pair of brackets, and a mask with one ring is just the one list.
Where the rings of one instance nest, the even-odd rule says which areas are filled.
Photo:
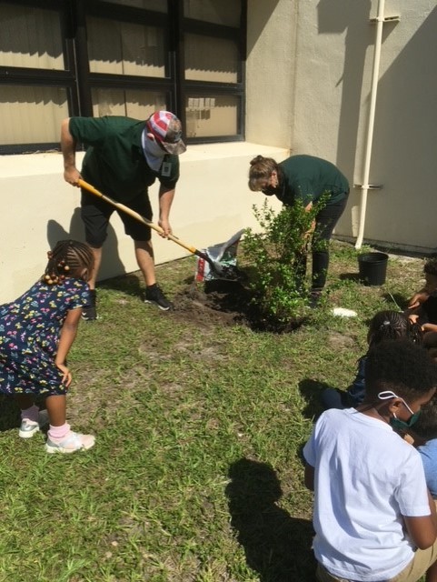
[[[81, 172], [75, 166], [77, 143], [87, 146]], [[78, 180], [84, 178], [149, 220], [153, 215], [147, 190], [158, 178], [158, 224], [164, 231], [162, 236], [172, 234], [169, 214], [179, 179], [178, 155], [186, 149], [181, 122], [174, 114], [156, 111], [146, 121], [121, 116], [69, 117], [61, 126], [61, 149], [66, 182], [78, 186]], [[114, 210], [114, 206], [82, 188], [85, 240], [94, 253], [94, 272], [89, 281], [93, 303], [83, 310], [83, 317], [88, 321], [97, 318], [95, 282], [109, 218]], [[173, 304], [156, 285], [150, 227], [123, 212], [117, 210], [117, 213], [124, 223], [124, 232], [134, 239], [136, 261], [146, 286], [144, 301], [164, 311], [172, 309]]]

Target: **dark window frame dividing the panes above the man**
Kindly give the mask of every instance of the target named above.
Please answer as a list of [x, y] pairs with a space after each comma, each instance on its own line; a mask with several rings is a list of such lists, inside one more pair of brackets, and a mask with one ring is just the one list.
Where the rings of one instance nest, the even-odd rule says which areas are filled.
[[[237, 122], [233, 135], [211, 135], [186, 138], [190, 144], [209, 144], [243, 141], [245, 116], [245, 55], [247, 0], [241, 0], [239, 27], [218, 25], [184, 17], [182, 0], [167, 0], [167, 13], [153, 12], [134, 6], [117, 5], [105, 0], [0, 0], [4, 4], [30, 6], [58, 13], [65, 61], [63, 70], [18, 66], [0, 66], [1, 85], [58, 86], [65, 88], [68, 115], [93, 115], [92, 89], [136, 89], [164, 93], [169, 110], [185, 126], [186, 95], [230, 95], [236, 98]], [[117, 75], [91, 72], [86, 40], [86, 18], [94, 16], [129, 23], [144, 23], [164, 27], [165, 73], [164, 77], [142, 75]], [[237, 82], [219, 83], [185, 80], [184, 35], [195, 34], [227, 38], [235, 42], [239, 53]], [[20, 154], [59, 149], [59, 142], [42, 144], [1, 145], [0, 154]]]

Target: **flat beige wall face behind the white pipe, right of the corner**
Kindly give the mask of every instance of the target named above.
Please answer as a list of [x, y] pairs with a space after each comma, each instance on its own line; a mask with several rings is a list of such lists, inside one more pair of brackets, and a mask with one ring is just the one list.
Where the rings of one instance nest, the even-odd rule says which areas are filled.
[[[293, 151], [326, 157], [363, 184], [377, 0], [299, 3]], [[385, 3], [380, 79], [364, 239], [403, 248], [436, 246], [437, 7]], [[353, 189], [336, 233], [356, 235], [361, 190]]]

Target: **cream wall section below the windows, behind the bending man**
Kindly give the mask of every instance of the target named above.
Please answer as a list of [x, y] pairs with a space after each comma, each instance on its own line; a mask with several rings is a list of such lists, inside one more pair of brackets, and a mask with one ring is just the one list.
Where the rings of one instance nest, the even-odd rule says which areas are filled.
[[[263, 154], [283, 159], [287, 150], [248, 143], [192, 146], [181, 156], [171, 224], [174, 235], [197, 248], [222, 243], [246, 226], [256, 226], [252, 206], [263, 195], [247, 187], [249, 161]], [[82, 155], [77, 155], [80, 165]], [[46, 251], [63, 238], [84, 240], [80, 192], [65, 183], [60, 154], [0, 156], [0, 303], [23, 293], [44, 272]], [[150, 189], [157, 216], [158, 186]], [[279, 207], [278, 204], [273, 205]], [[156, 263], [189, 253], [154, 235]], [[100, 279], [137, 270], [133, 243], [116, 214], [111, 219]]]

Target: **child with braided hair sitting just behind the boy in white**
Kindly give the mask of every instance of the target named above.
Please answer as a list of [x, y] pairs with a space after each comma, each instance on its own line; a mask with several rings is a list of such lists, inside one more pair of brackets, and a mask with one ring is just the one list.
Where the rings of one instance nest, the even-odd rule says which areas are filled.
[[[369, 348], [386, 339], [410, 339], [413, 344], [422, 345], [422, 330], [417, 324], [398, 311], [379, 311], [372, 317], [367, 332]], [[358, 360], [358, 370], [353, 384], [346, 391], [326, 388], [322, 393], [325, 408], [350, 408], [363, 402], [365, 396], [364, 366], [366, 356]]]

